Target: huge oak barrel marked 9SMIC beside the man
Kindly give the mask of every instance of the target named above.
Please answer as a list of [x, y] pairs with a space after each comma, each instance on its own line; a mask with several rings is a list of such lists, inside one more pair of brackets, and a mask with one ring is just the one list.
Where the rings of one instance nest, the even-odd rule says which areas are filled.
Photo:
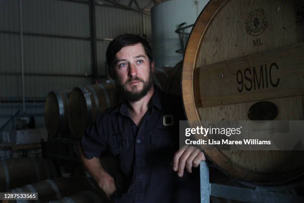
[[[260, 101], [278, 107], [274, 120], [304, 119], [303, 8], [302, 0], [211, 0], [206, 5], [183, 59], [189, 123], [250, 120], [250, 106]], [[304, 173], [303, 151], [233, 152], [214, 146], [205, 154], [230, 176], [260, 184]]]

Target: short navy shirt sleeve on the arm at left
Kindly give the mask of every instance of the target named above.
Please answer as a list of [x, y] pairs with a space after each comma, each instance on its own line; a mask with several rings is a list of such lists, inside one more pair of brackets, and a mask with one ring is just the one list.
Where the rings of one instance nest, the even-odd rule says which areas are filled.
[[104, 114], [98, 115], [96, 121], [90, 124], [84, 131], [80, 140], [83, 155], [86, 159], [99, 158], [106, 151], [108, 144], [106, 134], [103, 130]]

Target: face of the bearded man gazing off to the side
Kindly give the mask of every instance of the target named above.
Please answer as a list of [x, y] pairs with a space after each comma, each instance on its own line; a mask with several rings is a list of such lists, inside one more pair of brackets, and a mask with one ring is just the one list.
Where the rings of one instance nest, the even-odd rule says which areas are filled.
[[116, 85], [129, 101], [139, 101], [153, 85], [154, 63], [150, 63], [141, 43], [125, 46], [114, 61]]

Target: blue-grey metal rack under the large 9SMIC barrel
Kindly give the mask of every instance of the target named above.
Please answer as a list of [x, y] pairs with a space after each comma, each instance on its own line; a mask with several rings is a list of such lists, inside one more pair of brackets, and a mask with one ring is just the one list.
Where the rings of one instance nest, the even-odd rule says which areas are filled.
[[[205, 161], [200, 164], [201, 203], [210, 203], [210, 197], [225, 198], [246, 203], [304, 203], [304, 196], [279, 193], [304, 186], [298, 182], [282, 186], [235, 187], [209, 182], [209, 166]], [[245, 183], [244, 183], [245, 185]], [[248, 185], [252, 185], [249, 184]]]

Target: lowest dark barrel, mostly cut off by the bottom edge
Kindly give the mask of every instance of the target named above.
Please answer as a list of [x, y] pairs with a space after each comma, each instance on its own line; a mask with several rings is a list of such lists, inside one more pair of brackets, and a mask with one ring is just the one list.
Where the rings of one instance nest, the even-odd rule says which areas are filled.
[[50, 201], [49, 203], [106, 203], [102, 201], [93, 191], [81, 191], [70, 197], [65, 197], [58, 201]]

